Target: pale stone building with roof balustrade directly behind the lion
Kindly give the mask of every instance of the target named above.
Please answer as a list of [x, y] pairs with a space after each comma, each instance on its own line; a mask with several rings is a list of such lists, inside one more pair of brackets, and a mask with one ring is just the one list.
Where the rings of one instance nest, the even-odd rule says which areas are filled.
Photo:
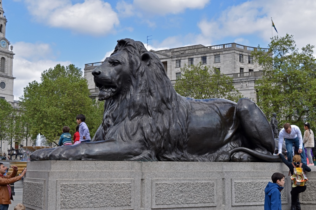
[[[205, 47], [193, 45], [181, 48], [165, 50], [150, 50], [162, 61], [167, 76], [173, 84], [181, 76], [181, 67], [195, 65], [201, 62], [203, 65], [215, 66], [221, 73], [233, 78], [234, 86], [245, 97], [257, 102], [257, 94], [254, 88], [255, 80], [262, 78], [263, 67], [254, 62], [251, 53], [257, 50], [236, 43], [221, 44]], [[267, 48], [262, 49], [265, 52]], [[91, 97], [96, 98], [99, 90], [95, 87], [91, 72], [103, 62], [86, 64], [84, 77], [88, 80]]]

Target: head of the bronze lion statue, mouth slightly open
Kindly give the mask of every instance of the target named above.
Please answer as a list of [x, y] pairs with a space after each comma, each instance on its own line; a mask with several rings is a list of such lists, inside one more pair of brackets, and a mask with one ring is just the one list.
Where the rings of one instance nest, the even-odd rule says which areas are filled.
[[131, 86], [136, 85], [139, 76], [144, 76], [144, 70], [150, 65], [152, 56], [155, 55], [150, 55], [141, 42], [132, 39], [118, 40], [111, 56], [92, 71], [94, 83], [99, 88], [99, 100], [129, 92]]

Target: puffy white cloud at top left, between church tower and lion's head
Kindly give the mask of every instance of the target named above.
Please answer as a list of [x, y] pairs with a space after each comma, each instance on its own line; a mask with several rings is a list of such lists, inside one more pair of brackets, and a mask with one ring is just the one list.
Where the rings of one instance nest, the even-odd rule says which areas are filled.
[[85, 0], [72, 4], [70, 0], [26, 0], [27, 9], [35, 20], [53, 27], [75, 32], [105, 35], [114, 32], [119, 25], [117, 13], [109, 3], [101, 0]]

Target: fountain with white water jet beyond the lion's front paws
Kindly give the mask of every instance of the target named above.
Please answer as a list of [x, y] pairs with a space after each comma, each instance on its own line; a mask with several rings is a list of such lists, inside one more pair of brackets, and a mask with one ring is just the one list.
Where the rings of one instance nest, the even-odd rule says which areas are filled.
[[23, 146], [21, 147], [22, 150], [22, 159], [19, 162], [11, 162], [10, 168], [8, 171], [8, 174], [12, 173], [13, 169], [11, 166], [17, 166], [18, 167], [18, 173], [16, 175], [19, 175], [22, 173], [22, 170], [24, 167], [26, 167], [27, 162], [30, 161], [30, 156], [35, 150], [43, 149], [43, 148], [52, 148], [51, 146], [48, 146], [48, 143], [46, 141], [45, 136], [41, 135], [40, 133], [36, 137], [35, 146]]

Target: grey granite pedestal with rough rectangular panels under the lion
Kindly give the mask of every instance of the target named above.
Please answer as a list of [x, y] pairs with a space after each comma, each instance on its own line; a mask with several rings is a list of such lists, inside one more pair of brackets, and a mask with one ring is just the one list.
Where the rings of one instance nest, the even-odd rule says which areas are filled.
[[[286, 175], [282, 208], [289, 209], [283, 163], [27, 162], [23, 204], [36, 210], [264, 209], [264, 188], [274, 172]], [[316, 173], [307, 177], [304, 210], [316, 204]]]

